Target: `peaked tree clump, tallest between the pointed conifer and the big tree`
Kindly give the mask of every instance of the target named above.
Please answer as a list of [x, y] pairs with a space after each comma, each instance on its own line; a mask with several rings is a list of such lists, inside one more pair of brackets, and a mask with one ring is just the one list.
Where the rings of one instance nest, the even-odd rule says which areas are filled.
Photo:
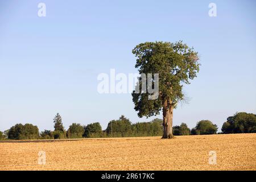
[[109, 122], [106, 133], [109, 135], [109, 137], [132, 136], [133, 129], [131, 122], [124, 115], [121, 115], [118, 120], [112, 120]]

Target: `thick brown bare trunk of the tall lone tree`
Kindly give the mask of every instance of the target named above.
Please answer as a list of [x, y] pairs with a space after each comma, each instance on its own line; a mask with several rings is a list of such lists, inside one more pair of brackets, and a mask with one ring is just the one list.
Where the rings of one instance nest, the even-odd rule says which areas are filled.
[[174, 138], [172, 134], [172, 118], [173, 118], [174, 106], [168, 100], [163, 101], [163, 137], [162, 138]]

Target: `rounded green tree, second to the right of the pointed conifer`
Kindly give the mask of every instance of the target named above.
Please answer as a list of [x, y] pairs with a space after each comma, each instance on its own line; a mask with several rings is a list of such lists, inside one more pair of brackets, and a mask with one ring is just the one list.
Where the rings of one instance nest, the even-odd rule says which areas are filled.
[[99, 122], [90, 123], [84, 127], [84, 135], [86, 138], [100, 138], [102, 137], [101, 124]]

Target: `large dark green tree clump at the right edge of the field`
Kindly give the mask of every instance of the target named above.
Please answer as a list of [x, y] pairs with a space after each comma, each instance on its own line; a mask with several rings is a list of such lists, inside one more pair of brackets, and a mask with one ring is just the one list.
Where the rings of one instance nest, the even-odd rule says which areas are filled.
[[228, 117], [222, 125], [221, 131], [229, 133], [256, 133], [256, 115], [248, 113], [236, 113]]

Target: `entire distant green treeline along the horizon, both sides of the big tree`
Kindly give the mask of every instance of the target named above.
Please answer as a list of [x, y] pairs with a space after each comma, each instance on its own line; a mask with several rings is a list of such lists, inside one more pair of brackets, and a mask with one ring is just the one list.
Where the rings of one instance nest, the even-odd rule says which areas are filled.
[[[151, 122], [131, 123], [124, 115], [117, 120], [108, 123], [106, 130], [102, 130], [100, 123], [90, 123], [82, 126], [72, 123], [68, 130], [64, 129], [62, 118], [59, 113], [53, 119], [54, 131], [44, 130], [39, 133], [37, 126], [32, 124], [16, 124], [2, 133], [3, 139], [65, 139], [65, 138], [106, 138], [106, 137], [154, 137], [163, 134], [162, 119], [154, 119]], [[218, 127], [209, 120], [197, 122], [196, 126], [189, 129], [187, 124], [172, 128], [174, 135], [210, 135], [217, 134]], [[256, 133], [256, 115], [247, 113], [236, 113], [228, 117], [222, 125], [223, 134], [232, 133]]]

